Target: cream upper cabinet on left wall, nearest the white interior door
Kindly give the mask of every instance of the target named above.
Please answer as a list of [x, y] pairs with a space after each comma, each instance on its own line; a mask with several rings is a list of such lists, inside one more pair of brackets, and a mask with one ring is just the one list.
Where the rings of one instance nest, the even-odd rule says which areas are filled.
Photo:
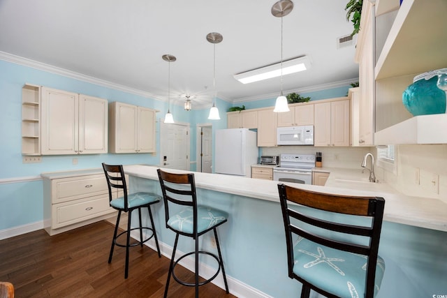
[[155, 110], [146, 107], [110, 103], [110, 152], [155, 152], [155, 113]]

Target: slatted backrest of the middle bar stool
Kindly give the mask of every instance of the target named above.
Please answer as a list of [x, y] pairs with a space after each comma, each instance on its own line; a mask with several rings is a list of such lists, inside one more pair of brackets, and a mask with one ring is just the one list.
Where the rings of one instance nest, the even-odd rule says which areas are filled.
[[177, 230], [175, 232], [194, 237], [197, 234], [197, 196], [194, 174], [175, 174], [164, 172], [161, 169], [157, 169], [157, 173], [159, 174], [161, 192], [163, 193], [163, 201], [165, 204], [166, 228], [173, 230], [168, 225], [168, 219], [170, 218], [169, 203], [193, 207], [193, 234], [179, 232]]

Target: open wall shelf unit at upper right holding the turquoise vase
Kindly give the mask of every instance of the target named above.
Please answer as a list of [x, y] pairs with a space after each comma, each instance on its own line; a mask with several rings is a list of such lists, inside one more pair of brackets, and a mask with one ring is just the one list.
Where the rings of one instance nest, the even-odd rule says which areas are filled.
[[395, 19], [385, 32], [388, 35], [375, 66], [374, 144], [445, 144], [447, 137], [440, 135], [437, 128], [447, 124], [446, 115], [413, 117], [402, 104], [402, 92], [415, 75], [447, 67], [447, 1], [404, 0], [401, 6], [388, 4], [384, 6], [383, 0], [376, 3], [376, 12], [388, 13], [394, 8], [390, 13], [395, 13]]

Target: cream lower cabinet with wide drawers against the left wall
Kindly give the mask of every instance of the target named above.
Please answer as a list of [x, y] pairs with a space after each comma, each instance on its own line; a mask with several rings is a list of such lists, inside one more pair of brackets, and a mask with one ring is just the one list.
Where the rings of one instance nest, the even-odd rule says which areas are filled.
[[[43, 176], [45, 230], [59, 234], [113, 216], [104, 174], [46, 173]], [[117, 191], [113, 198], [117, 198]]]

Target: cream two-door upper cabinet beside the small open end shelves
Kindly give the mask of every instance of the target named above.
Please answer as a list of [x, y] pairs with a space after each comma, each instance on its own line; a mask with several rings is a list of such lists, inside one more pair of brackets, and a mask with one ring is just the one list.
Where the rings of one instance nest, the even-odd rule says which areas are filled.
[[42, 154], [107, 152], [107, 100], [45, 87], [42, 94]]

